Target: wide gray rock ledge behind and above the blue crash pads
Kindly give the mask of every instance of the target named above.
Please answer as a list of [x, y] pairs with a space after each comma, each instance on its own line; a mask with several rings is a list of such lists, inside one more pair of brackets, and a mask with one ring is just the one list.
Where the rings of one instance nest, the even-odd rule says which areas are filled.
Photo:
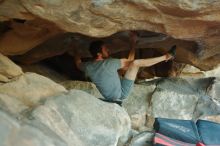
[[[162, 79], [152, 95], [154, 117], [196, 120], [220, 113], [220, 107], [209, 95], [215, 78]], [[216, 92], [215, 89], [213, 89]], [[218, 91], [218, 90], [217, 90]]]

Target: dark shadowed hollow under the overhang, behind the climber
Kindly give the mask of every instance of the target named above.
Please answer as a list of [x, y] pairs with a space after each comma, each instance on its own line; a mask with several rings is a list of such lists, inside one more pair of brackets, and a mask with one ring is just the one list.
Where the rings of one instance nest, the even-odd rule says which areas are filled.
[[[1, 22], [1, 35], [5, 37], [5, 34], [7, 35], [16, 29], [16, 31], [19, 31], [19, 28], [17, 27], [23, 27], [21, 32], [16, 32], [14, 36], [12, 36], [12, 42], [13, 39], [16, 39], [15, 37], [19, 38], [22, 37], [22, 35], [27, 38], [32, 37], [35, 40], [39, 39], [36, 38], [36, 36], [39, 35], [39, 30], [35, 30], [35, 27], [37, 26], [27, 26], [26, 24], [27, 22], [21, 19]], [[11, 26], [16, 28], [12, 28]], [[44, 74], [46, 71], [43, 71], [43, 68], [48, 68], [48, 70], [57, 72], [57, 74], [63, 76], [63, 78], [83, 81], [87, 79], [75, 66], [73, 59], [75, 52], [77, 51], [81, 55], [83, 61], [91, 60], [91, 55], [88, 51], [89, 44], [94, 40], [103, 40], [108, 47], [111, 57], [127, 58], [131, 48], [129, 33], [130, 31], [127, 30], [117, 32], [108, 37], [94, 38], [79, 33], [60, 32], [33, 48], [26, 48], [24, 51], [22, 50], [22, 53], [13, 52], [14, 54], [10, 54], [9, 57], [21, 65], [23, 70], [26, 72], [36, 72], [50, 78], [50, 75]], [[177, 45], [177, 56], [174, 60], [162, 62], [152, 67], [140, 68], [137, 80], [154, 77], [178, 77], [187, 63], [195, 66], [198, 65], [193, 64], [191, 61], [193, 59], [198, 59], [195, 54], [199, 50], [197, 43], [193, 41], [174, 39], [165, 34], [145, 30], [135, 30], [135, 33], [137, 35], [135, 59], [157, 57], [165, 54], [172, 45]], [[8, 37], [10, 37], [10, 35]], [[10, 38], [8, 39], [10, 40]], [[20, 42], [20, 44], [23, 43], [25, 42]], [[3, 45], [8, 44], [5, 43]], [[186, 53], [186, 55], [183, 55], [183, 53]], [[192, 55], [194, 58], [187, 58], [187, 56], [189, 56], [188, 54]], [[39, 67], [39, 70], [36, 66]], [[202, 70], [210, 68], [209, 66], [198, 67]]]

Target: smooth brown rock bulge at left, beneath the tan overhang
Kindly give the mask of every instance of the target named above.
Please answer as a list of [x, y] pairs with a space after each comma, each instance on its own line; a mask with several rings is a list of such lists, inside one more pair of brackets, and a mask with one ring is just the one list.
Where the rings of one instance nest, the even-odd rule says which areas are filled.
[[5, 55], [23, 54], [61, 33], [54, 24], [41, 19], [11, 21], [9, 28], [0, 39], [1, 52]]

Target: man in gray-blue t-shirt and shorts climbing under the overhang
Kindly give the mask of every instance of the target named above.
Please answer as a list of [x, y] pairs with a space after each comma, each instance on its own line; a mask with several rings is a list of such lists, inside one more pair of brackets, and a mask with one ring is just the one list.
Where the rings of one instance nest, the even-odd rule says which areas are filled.
[[[131, 91], [134, 80], [140, 67], [149, 67], [162, 61], [168, 61], [174, 57], [175, 49], [160, 57], [134, 60], [135, 37], [133, 35], [132, 48], [128, 59], [109, 58], [108, 50], [103, 41], [94, 41], [90, 44], [89, 51], [93, 61], [81, 62], [80, 57], [75, 57], [77, 67], [85, 72], [91, 81], [96, 85], [100, 93], [108, 101], [121, 101]], [[118, 70], [126, 69], [125, 75], [120, 79]]]

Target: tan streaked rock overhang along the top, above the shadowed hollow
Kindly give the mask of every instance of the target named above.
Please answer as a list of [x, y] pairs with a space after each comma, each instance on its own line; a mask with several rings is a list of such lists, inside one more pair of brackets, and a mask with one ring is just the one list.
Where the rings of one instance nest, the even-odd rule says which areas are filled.
[[30, 13], [65, 30], [92, 36], [145, 29], [195, 39], [216, 33], [213, 30], [219, 28], [218, 1], [21, 0], [21, 3]]

